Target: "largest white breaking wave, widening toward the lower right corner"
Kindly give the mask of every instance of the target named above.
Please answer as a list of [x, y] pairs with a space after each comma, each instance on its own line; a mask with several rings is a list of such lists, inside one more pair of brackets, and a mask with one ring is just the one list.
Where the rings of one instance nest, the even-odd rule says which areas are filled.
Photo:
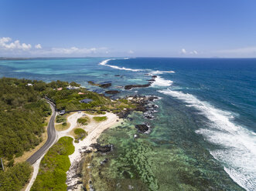
[[231, 179], [234, 179], [244, 189], [256, 190], [255, 133], [232, 122], [234, 118], [232, 113], [217, 109], [208, 102], [200, 101], [194, 95], [171, 89], [159, 92], [183, 100], [188, 104], [187, 106], [198, 109], [210, 120], [209, 128], [198, 129], [196, 133], [223, 148], [211, 150], [210, 154], [224, 164], [224, 170]]

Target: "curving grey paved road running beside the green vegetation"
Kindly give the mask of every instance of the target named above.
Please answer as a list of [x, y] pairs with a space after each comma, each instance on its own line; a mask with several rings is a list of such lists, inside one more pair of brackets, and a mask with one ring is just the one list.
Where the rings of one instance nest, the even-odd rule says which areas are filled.
[[36, 151], [32, 156], [29, 157], [29, 159], [27, 159], [26, 161], [29, 162], [30, 164], [36, 163], [36, 160], [39, 159], [41, 156], [43, 156], [43, 154], [47, 151], [47, 149], [49, 149], [49, 147], [51, 147], [53, 145], [53, 143], [55, 142], [56, 139], [56, 130], [54, 128], [54, 119], [56, 116], [56, 109], [55, 109], [55, 105], [53, 104], [53, 102], [49, 102], [49, 105], [51, 106], [51, 109], [53, 111], [51, 118], [49, 119], [49, 124], [48, 124], [48, 128], [47, 128], [47, 141], [46, 143], [38, 150]]

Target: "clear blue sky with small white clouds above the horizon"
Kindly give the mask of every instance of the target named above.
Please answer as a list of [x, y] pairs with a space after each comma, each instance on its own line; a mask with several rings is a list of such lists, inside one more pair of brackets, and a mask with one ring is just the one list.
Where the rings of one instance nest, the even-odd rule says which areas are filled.
[[256, 57], [254, 0], [1, 0], [1, 56]]

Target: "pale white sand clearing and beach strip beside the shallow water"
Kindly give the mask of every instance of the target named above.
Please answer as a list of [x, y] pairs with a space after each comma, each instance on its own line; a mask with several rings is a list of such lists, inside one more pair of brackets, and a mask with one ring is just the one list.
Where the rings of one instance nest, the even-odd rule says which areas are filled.
[[[83, 115], [84, 113], [74, 113], [73, 115], [69, 116], [67, 118], [67, 121], [70, 122], [70, 128], [63, 132], [58, 132], [58, 136], [70, 136], [70, 132], [77, 126], [77, 119], [79, 119]], [[71, 166], [70, 169], [67, 171], [67, 186], [76, 185], [77, 181], [80, 180], [79, 177], [76, 177], [76, 173], [77, 165], [82, 157], [82, 152], [84, 152], [85, 149], [91, 149], [90, 144], [97, 142], [97, 138], [101, 136], [101, 132], [103, 132], [105, 129], [110, 128], [111, 126], [116, 126], [121, 122], [118, 116], [111, 112], [107, 112], [105, 115], [101, 115], [108, 117], [108, 119], [103, 122], [95, 122], [93, 119], [94, 116], [92, 115], [86, 114], [86, 116], [90, 118], [90, 123], [87, 126], [79, 126], [79, 128], [84, 129], [88, 133], [88, 135], [86, 138], [84, 138], [84, 140], [78, 143], [73, 142], [73, 146], [75, 146], [75, 151], [72, 155], [69, 156]], [[77, 184], [76, 188], [73, 188], [72, 190], [80, 190], [81, 186], [81, 184]]]

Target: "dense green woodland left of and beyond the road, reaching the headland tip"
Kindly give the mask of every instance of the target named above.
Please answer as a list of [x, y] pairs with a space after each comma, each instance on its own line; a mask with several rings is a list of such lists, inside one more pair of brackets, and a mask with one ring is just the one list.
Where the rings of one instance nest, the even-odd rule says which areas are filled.
[[[77, 88], [67, 89], [68, 85]], [[51, 112], [49, 105], [42, 99], [45, 96], [56, 102], [56, 108], [59, 110], [96, 109], [97, 113], [104, 114], [100, 109], [119, 112], [133, 107], [125, 99], [111, 102], [108, 97], [80, 88], [76, 82], [57, 80], [46, 83], [37, 80], [2, 78], [0, 79], [0, 157], [11, 160], [13, 156], [21, 156], [24, 151], [37, 146], [42, 140], [45, 118]], [[93, 101], [81, 103], [81, 99]], [[67, 125], [65, 118], [58, 116], [56, 120], [62, 122], [63, 126]]]

